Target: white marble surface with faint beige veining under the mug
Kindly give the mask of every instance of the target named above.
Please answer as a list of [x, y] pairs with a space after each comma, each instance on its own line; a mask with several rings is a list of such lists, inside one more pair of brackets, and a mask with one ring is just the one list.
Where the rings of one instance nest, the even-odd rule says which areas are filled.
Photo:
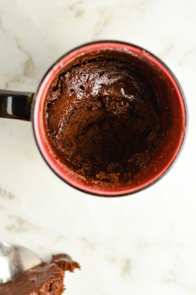
[[179, 79], [189, 111], [171, 171], [131, 196], [100, 198], [57, 178], [30, 122], [0, 119], [0, 236], [42, 259], [65, 252], [81, 271], [65, 294], [196, 294], [196, 2], [1, 0], [0, 88], [35, 91], [67, 50], [99, 39], [137, 44]]

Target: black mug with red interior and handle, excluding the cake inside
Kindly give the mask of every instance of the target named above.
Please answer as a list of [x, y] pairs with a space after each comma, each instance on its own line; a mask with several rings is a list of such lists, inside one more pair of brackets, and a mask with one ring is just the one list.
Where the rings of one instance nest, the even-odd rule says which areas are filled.
[[[48, 138], [44, 101], [47, 91], [58, 73], [67, 65], [85, 55], [95, 53], [120, 54], [128, 58], [151, 82], [159, 97], [162, 128], [165, 134], [152, 154], [147, 168], [134, 174], [131, 181], [99, 181], [77, 173], [52, 148]], [[70, 186], [97, 196], [123, 196], [136, 193], [162, 178], [177, 159], [187, 130], [187, 107], [183, 91], [170, 69], [149, 51], [121, 41], [102, 40], [86, 43], [70, 50], [58, 59], [45, 73], [37, 91], [0, 91], [0, 117], [32, 121], [38, 149], [52, 171]]]

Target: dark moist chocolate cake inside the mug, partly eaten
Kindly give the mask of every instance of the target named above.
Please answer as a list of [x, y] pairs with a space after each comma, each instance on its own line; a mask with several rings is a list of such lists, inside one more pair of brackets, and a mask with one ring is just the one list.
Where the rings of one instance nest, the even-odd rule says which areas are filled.
[[82, 175], [116, 182], [144, 170], [162, 139], [159, 101], [129, 60], [100, 55], [76, 60], [45, 100], [47, 133]]

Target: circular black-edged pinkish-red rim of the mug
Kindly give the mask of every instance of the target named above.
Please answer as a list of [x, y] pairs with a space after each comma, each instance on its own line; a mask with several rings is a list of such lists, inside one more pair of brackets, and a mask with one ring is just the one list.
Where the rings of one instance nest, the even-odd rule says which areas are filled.
[[[71, 53], [73, 53], [74, 51], [77, 51], [83, 47], [86, 47], [88, 45], [94, 45], [94, 44], [101, 44], [101, 43], [117, 43], [117, 44], [121, 44], [121, 45], [128, 45], [130, 47], [134, 47], [140, 51], [142, 51], [143, 53], [146, 53], [147, 55], [151, 56], [152, 58], [154, 58], [155, 60], [157, 60], [168, 72], [169, 74], [172, 76], [172, 78], [174, 79], [178, 89], [179, 89], [179, 92], [182, 96], [182, 101], [184, 103], [184, 111], [185, 111], [185, 132], [184, 132], [184, 136], [182, 138], [182, 142], [181, 142], [181, 145], [180, 145], [180, 148], [179, 150], [177, 151], [177, 154], [175, 155], [174, 159], [172, 160], [172, 163], [169, 164], [169, 166], [167, 167], [167, 165], [165, 165], [164, 167], [167, 167], [167, 169], [162, 173], [162, 171], [160, 172], [161, 175], [156, 178], [154, 181], [150, 182], [149, 184], [145, 185], [144, 183], [144, 186], [139, 188], [139, 189], [136, 189], [134, 191], [130, 191], [130, 192], [126, 192], [126, 193], [117, 193], [115, 194], [114, 191], [111, 191], [111, 192], [108, 192], [108, 194], [104, 194], [101, 193], [101, 190], [100, 190], [100, 193], [97, 193], [97, 192], [93, 192], [93, 191], [88, 191], [88, 190], [85, 190], [83, 188], [81, 188], [80, 184], [78, 183], [78, 186], [75, 186], [73, 183], [70, 183], [69, 181], [67, 181], [65, 178], [63, 178], [57, 171], [55, 171], [55, 169], [50, 165], [50, 163], [48, 163], [47, 159], [45, 158], [44, 156], [44, 153], [42, 152], [42, 149], [41, 147], [39, 146], [39, 142], [38, 142], [38, 139], [37, 139], [37, 133], [36, 133], [36, 127], [35, 127], [35, 119], [38, 117], [35, 116], [35, 104], [36, 104], [36, 97], [37, 97], [37, 94], [39, 92], [39, 89], [40, 87], [42, 86], [43, 82], [45, 81], [45, 78], [47, 77], [47, 75], [51, 72], [51, 70], [55, 67], [55, 65], [57, 65], [62, 59], [64, 59], [67, 55], [70, 55]], [[37, 147], [39, 149], [39, 152], [41, 153], [42, 155], [42, 158], [45, 160], [46, 164], [49, 166], [49, 168], [62, 180], [64, 181], [65, 183], [67, 183], [68, 185], [72, 186], [73, 188], [79, 190], [79, 191], [82, 191], [84, 193], [87, 193], [87, 194], [90, 194], [90, 195], [94, 195], [94, 196], [104, 196], [104, 197], [117, 197], [117, 196], [127, 196], [127, 195], [131, 195], [131, 194], [135, 194], [139, 191], [142, 191], [148, 187], [150, 187], [151, 185], [153, 185], [154, 183], [156, 183], [157, 181], [159, 181], [163, 176], [165, 176], [165, 174], [172, 168], [172, 166], [174, 165], [175, 161], [177, 160], [183, 146], [184, 146], [184, 143], [185, 143], [185, 138], [186, 138], [186, 135], [187, 135], [187, 120], [188, 120], [188, 112], [187, 112], [187, 104], [186, 104], [186, 100], [185, 100], [185, 95], [183, 93], [183, 90], [182, 90], [182, 87], [180, 86], [177, 78], [175, 77], [175, 75], [172, 73], [172, 71], [168, 68], [168, 66], [162, 61], [160, 60], [156, 55], [154, 55], [153, 53], [151, 53], [150, 51], [138, 46], [138, 45], [134, 45], [132, 43], [129, 43], [129, 42], [123, 42], [123, 41], [119, 41], [119, 40], [98, 40], [98, 41], [93, 41], [93, 42], [88, 42], [88, 43], [84, 43], [84, 44], [81, 44], [77, 47], [74, 47], [73, 49], [69, 50], [67, 53], [65, 53], [64, 55], [62, 55], [60, 58], [58, 58], [55, 63], [53, 63], [50, 68], [47, 70], [47, 72], [45, 73], [45, 75], [43, 76], [42, 80], [40, 81], [39, 83], [39, 86], [37, 88], [37, 91], [36, 93], [34, 94], [34, 100], [33, 100], [33, 107], [32, 107], [32, 121], [33, 121], [33, 133], [34, 133], [34, 137], [35, 137], [35, 141], [36, 141], [36, 144], [37, 144]], [[179, 142], [179, 141], [178, 141]], [[177, 150], [177, 149], [176, 149]], [[163, 170], [163, 169], [162, 169]], [[123, 189], [121, 189], [120, 191], [123, 191]], [[126, 190], [128, 191], [128, 189]]]

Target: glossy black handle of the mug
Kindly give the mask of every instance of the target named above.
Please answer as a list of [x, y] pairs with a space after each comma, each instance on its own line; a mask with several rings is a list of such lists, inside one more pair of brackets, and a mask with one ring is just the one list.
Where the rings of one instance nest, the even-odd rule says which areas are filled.
[[34, 93], [0, 90], [0, 117], [31, 121]]

